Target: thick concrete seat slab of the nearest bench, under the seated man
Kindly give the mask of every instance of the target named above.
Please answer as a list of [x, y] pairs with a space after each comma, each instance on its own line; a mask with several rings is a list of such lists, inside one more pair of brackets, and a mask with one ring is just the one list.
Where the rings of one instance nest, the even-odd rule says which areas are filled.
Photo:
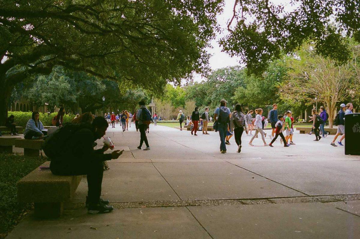
[[[50, 161], [42, 166], [49, 166]], [[18, 201], [22, 203], [55, 203], [72, 200], [80, 176], [57, 176], [50, 170], [36, 168], [18, 184]]]

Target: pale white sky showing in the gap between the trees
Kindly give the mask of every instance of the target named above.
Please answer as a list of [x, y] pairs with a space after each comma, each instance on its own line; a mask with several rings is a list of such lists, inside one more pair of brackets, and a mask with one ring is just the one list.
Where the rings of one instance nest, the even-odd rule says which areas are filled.
[[[224, 0], [225, 6], [224, 11], [222, 14], [220, 14], [217, 17], [217, 22], [222, 28], [226, 28], [228, 20], [233, 16], [233, 6], [235, 3], [235, 0]], [[290, 10], [293, 7], [289, 4], [288, 0], [270, 0], [271, 3], [280, 5], [284, 5], [284, 10]], [[240, 61], [240, 58], [238, 57], [230, 57], [225, 52], [221, 52], [221, 47], [219, 46], [219, 43], [217, 41], [222, 37], [225, 36], [227, 33], [227, 30], [224, 30], [222, 34], [217, 33], [216, 38], [211, 41], [211, 45], [213, 48], [208, 48], [207, 52], [210, 53], [212, 56], [209, 61], [210, 68], [212, 70], [216, 70], [219, 68], [224, 68], [227, 66], [236, 66], [236, 65], [244, 65]], [[195, 82], [201, 82], [202, 80], [205, 80], [204, 78], [201, 78], [200, 74], [194, 74], [194, 81]]]

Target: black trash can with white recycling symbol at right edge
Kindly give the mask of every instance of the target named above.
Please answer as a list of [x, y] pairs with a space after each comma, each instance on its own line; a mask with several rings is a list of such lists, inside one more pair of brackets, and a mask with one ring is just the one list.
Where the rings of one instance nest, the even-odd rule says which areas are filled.
[[345, 115], [345, 154], [360, 155], [360, 113]]

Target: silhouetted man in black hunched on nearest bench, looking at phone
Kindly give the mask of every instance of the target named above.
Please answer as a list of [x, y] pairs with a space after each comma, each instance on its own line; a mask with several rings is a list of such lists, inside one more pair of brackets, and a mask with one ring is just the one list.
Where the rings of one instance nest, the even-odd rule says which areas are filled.
[[108, 149], [107, 145], [94, 150], [95, 140], [105, 135], [108, 126], [103, 117], [96, 117], [91, 125], [80, 125], [80, 129], [62, 145], [61, 155], [51, 158], [50, 162], [50, 170], [55, 175], [87, 175], [86, 206], [90, 214], [108, 213], [113, 210], [113, 207], [108, 205], [109, 201], [100, 199], [103, 161], [118, 158], [123, 150], [104, 154]]

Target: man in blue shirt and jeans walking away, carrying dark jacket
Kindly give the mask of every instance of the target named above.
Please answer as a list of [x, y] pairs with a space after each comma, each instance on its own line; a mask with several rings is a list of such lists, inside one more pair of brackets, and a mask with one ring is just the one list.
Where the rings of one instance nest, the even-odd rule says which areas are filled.
[[225, 99], [220, 100], [220, 107], [217, 107], [214, 112], [214, 121], [217, 122], [217, 130], [220, 135], [220, 152], [226, 153], [226, 132], [229, 130], [230, 123], [230, 109], [226, 107], [228, 102]]

